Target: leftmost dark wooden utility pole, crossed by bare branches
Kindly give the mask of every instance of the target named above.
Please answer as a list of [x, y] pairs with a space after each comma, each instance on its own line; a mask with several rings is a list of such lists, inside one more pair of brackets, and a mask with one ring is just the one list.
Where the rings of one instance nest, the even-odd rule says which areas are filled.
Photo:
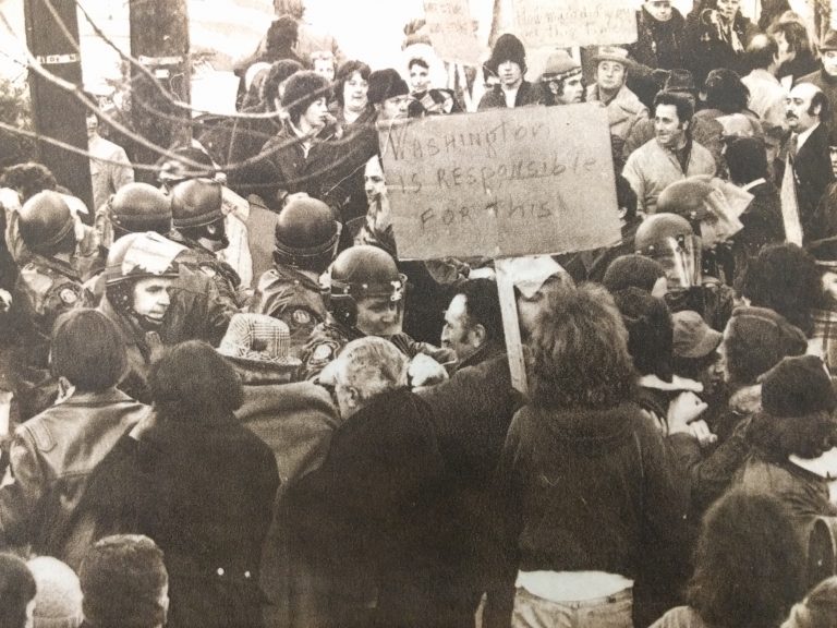
[[[73, 36], [75, 46], [68, 40], [44, 0], [25, 0], [24, 2], [26, 44], [46, 70], [82, 86], [82, 59], [76, 51], [78, 21], [75, 15], [75, 1], [51, 0], [51, 2], [56, 13]], [[73, 94], [51, 84], [33, 71], [29, 71], [28, 82], [37, 133], [87, 150], [84, 105]], [[44, 142], [38, 145], [38, 154], [40, 161], [52, 171], [61, 185], [84, 201], [87, 207], [93, 207], [89, 158]], [[92, 219], [93, 210], [88, 216]]]

